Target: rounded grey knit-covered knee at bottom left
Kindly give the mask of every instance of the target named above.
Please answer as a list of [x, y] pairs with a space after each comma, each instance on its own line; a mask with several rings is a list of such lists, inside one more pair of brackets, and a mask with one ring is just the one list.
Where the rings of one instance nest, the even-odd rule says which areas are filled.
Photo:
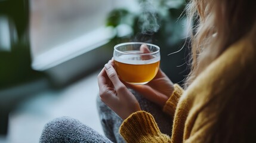
[[45, 125], [39, 142], [44, 143], [84, 143], [84, 142], [111, 142], [94, 129], [70, 117], [60, 117]]

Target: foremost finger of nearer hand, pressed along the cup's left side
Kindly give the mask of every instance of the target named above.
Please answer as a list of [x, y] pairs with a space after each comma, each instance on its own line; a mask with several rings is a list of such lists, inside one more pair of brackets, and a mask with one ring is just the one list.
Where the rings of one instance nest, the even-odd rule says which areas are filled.
[[105, 64], [105, 70], [107, 73], [107, 76], [115, 86], [115, 88], [119, 88], [120, 86], [124, 85], [118, 77], [118, 74], [116, 73], [116, 70], [113, 68], [110, 64]]

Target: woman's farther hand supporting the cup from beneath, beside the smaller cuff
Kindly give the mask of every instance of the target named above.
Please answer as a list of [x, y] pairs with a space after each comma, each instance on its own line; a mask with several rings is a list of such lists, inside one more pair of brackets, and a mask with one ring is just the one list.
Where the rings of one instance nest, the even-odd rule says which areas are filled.
[[161, 107], [164, 107], [165, 102], [174, 91], [173, 83], [161, 69], [158, 70], [154, 79], [146, 85], [131, 85], [129, 83], [125, 83], [125, 85], [140, 92], [147, 100], [155, 102]]

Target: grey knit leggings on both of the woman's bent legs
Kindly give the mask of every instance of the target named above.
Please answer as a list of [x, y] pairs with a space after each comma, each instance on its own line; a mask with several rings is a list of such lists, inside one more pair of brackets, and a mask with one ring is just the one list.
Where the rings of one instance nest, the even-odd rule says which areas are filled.
[[[158, 105], [131, 90], [140, 103], [141, 110], [154, 117], [162, 133], [171, 135], [172, 119]], [[97, 97], [97, 108], [104, 135], [70, 117], [60, 117], [45, 125], [39, 142], [125, 142], [118, 130], [122, 119]]]

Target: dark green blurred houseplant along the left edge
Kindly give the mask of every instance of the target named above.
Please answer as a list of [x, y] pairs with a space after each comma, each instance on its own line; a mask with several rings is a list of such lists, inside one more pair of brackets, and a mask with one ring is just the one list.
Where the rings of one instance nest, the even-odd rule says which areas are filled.
[[28, 0], [0, 1], [0, 135], [7, 133], [10, 111], [39, 91], [33, 81], [43, 76], [30, 66], [28, 26]]

